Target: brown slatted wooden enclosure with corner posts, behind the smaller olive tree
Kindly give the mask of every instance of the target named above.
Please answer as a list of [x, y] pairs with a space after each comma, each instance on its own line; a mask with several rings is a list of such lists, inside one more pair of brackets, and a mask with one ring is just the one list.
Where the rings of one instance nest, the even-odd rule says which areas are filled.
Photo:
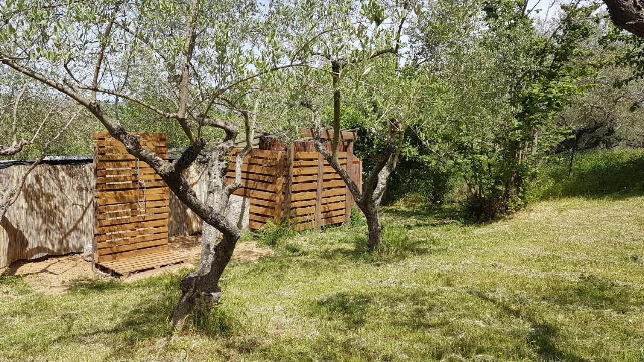
[[[248, 196], [249, 229], [258, 230], [269, 222], [287, 221], [298, 230], [339, 224], [349, 220], [353, 196], [345, 182], [317, 151], [296, 152], [253, 149], [244, 158], [242, 187], [237, 195]], [[241, 149], [234, 149], [233, 155]], [[233, 157], [234, 159], [234, 157]], [[361, 187], [362, 162], [353, 155], [353, 143], [339, 153], [340, 164]], [[234, 180], [234, 162], [227, 181]]]

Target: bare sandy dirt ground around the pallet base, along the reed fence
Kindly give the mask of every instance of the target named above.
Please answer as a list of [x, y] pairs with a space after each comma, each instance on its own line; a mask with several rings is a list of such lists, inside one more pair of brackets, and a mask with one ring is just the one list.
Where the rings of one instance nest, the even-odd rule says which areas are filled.
[[[198, 236], [176, 236], [169, 241], [171, 251], [186, 256], [187, 262], [182, 267], [191, 267], [201, 256], [201, 238]], [[268, 248], [258, 248], [254, 242], [239, 243], [232, 258], [242, 262], [255, 262], [262, 256], [269, 256], [272, 251]], [[178, 267], [158, 269], [144, 274], [134, 274], [126, 281], [139, 280], [147, 276], [158, 275], [168, 271], [176, 271]], [[80, 254], [64, 256], [48, 256], [37, 260], [19, 260], [5, 269], [0, 269], [0, 275], [24, 276], [31, 287], [46, 294], [66, 292], [77, 280], [110, 278], [91, 271], [91, 263], [81, 258]]]

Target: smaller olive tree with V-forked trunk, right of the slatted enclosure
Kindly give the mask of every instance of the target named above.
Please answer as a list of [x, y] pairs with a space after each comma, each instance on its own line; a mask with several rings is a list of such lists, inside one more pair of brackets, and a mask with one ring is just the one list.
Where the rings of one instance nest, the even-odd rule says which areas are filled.
[[[319, 33], [307, 43], [307, 67], [296, 73], [299, 104], [311, 112], [317, 151], [345, 182], [355, 204], [365, 214], [367, 248], [382, 240], [379, 208], [403, 146], [410, 115], [417, 111], [421, 87], [415, 67], [403, 64], [403, 37], [411, 17], [421, 11], [408, 1], [307, 1], [295, 6], [299, 29]], [[381, 148], [379, 159], [366, 175], [362, 190], [338, 160], [343, 93], [371, 106], [368, 124]], [[369, 107], [367, 106], [367, 108]], [[333, 135], [327, 149], [321, 138], [323, 110], [330, 109]]]

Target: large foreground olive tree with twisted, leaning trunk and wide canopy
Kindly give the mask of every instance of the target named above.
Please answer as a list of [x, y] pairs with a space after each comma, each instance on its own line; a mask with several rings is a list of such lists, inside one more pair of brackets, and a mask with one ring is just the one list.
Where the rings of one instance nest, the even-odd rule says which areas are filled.
[[[254, 100], [279, 84], [279, 70], [305, 64], [298, 44], [276, 36], [272, 10], [249, 0], [8, 1], [0, 10], [0, 62], [89, 111], [207, 225], [198, 269], [180, 281], [174, 329], [222, 296], [220, 276], [240, 238], [225, 216], [249, 151], [238, 153], [236, 178], [225, 184], [240, 125], [252, 137]], [[187, 142], [180, 157], [168, 162], [146, 151], [112, 110], [118, 100], [178, 124]], [[182, 176], [198, 155], [209, 171], [205, 201]]]

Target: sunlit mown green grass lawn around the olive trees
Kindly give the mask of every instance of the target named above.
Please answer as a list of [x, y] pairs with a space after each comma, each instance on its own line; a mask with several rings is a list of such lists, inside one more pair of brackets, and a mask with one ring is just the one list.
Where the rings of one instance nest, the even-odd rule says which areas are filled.
[[[223, 303], [166, 345], [178, 276], [0, 289], [0, 361], [644, 361], [644, 196], [562, 198], [468, 224], [388, 207], [365, 227], [269, 238]], [[273, 235], [275, 236], [275, 235]], [[262, 242], [262, 240], [260, 240]]]

